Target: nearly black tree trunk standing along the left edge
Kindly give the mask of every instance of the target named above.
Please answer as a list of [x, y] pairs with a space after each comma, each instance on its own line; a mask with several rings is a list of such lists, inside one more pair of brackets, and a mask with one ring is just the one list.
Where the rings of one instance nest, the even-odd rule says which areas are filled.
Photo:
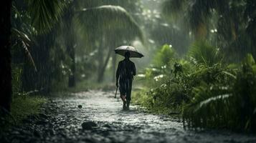
[[1, 8], [0, 26], [0, 107], [11, 109], [11, 0], [4, 0]]

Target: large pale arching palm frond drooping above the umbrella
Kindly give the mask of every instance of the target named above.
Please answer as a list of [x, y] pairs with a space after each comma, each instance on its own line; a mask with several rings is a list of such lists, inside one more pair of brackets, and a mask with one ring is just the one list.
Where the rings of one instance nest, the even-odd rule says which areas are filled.
[[[121, 6], [98, 6], [77, 11], [82, 26], [99, 34], [115, 38], [135, 39], [138, 37], [144, 42], [143, 32], [133, 17]], [[120, 35], [109, 35], [110, 31], [118, 31]]]

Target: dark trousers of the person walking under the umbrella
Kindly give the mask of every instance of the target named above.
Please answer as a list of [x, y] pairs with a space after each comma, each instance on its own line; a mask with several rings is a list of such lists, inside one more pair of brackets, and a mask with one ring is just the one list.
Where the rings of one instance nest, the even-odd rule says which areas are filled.
[[119, 84], [120, 95], [126, 95], [126, 101], [130, 102], [133, 79], [120, 79]]

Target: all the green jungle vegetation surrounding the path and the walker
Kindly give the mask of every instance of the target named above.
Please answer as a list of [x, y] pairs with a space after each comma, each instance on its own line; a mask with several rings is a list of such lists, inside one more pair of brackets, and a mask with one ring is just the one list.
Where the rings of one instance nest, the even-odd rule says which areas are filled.
[[256, 129], [254, 0], [12, 0], [2, 7], [10, 14], [1, 18], [8, 48], [0, 55], [0, 106], [14, 122], [57, 92], [115, 89], [123, 57], [113, 49], [131, 44], [145, 55], [132, 59], [133, 103], [178, 114], [184, 127]]

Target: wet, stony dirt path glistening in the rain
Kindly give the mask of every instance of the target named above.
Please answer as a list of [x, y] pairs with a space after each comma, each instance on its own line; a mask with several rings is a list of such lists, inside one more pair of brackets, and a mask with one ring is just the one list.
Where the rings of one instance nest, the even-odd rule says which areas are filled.
[[123, 111], [113, 95], [89, 91], [52, 99], [42, 107], [43, 114], [24, 120], [1, 142], [256, 142], [253, 134], [184, 129], [178, 119], [148, 114], [133, 105]]

